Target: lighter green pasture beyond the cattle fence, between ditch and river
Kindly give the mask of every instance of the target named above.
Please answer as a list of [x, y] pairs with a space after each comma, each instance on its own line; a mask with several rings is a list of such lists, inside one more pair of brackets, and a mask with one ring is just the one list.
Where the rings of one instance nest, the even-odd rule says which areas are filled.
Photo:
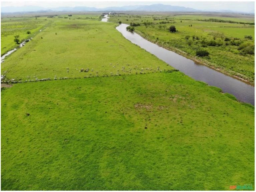
[[[114, 23], [54, 18], [49, 27], [6, 58], [2, 74], [8, 79], [35, 80], [152, 73], [159, 66], [173, 69], [131, 44], [115, 27]], [[79, 72], [87, 68], [88, 72]]]

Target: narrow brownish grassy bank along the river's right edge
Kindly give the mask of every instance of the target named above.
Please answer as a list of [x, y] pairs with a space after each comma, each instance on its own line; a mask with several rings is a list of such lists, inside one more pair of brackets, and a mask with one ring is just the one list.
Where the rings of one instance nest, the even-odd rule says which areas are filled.
[[212, 68], [212, 69], [214, 69], [216, 71], [219, 71], [219, 72], [221, 72], [221, 73], [223, 73], [225, 75], [229, 75], [229, 76], [231, 76], [233, 78], [236, 78], [236, 79], [241, 80], [241, 81], [243, 81], [245, 83], [248, 83], [249, 85], [253, 85], [253, 86], [255, 85], [254, 79], [246, 77], [246, 76], [244, 76], [244, 75], [242, 75], [240, 73], [237, 73], [235, 71], [227, 70], [225, 68], [220, 68], [219, 66], [217, 66], [214, 63], [211, 63], [209, 61], [200, 59], [199, 57], [191, 56], [188, 53], [186, 53], [185, 51], [182, 51], [182, 50], [180, 50], [178, 48], [169, 47], [166, 44], [159, 43], [159, 41], [157, 41], [157, 40], [153, 41], [148, 36], [146, 36], [144, 33], [140, 32], [138, 30], [135, 30], [134, 32], [137, 33], [138, 35], [142, 36], [146, 40], [148, 40], [148, 41], [150, 41], [150, 42], [152, 42], [154, 44], [157, 44], [158, 46], [160, 46], [162, 48], [168, 49], [168, 50], [173, 51], [173, 52], [175, 52], [175, 53], [177, 53], [179, 55], [182, 55], [182, 56], [184, 56], [184, 57], [186, 57], [188, 59], [191, 59], [191, 60], [195, 61], [197, 64], [206, 65], [206, 66], [208, 66], [208, 67], [210, 67], [210, 68]]

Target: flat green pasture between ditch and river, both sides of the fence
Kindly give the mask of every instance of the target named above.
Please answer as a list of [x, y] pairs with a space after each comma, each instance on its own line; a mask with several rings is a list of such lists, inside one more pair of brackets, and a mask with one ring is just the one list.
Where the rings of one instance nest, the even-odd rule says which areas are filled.
[[[66, 67], [72, 77], [87, 74], [75, 69], [84, 66], [101, 74], [122, 65], [172, 69], [114, 26], [55, 18], [2, 67], [23, 79], [64, 76]], [[254, 183], [251, 105], [181, 72], [136, 70], [2, 90], [2, 190], [228, 190]]]

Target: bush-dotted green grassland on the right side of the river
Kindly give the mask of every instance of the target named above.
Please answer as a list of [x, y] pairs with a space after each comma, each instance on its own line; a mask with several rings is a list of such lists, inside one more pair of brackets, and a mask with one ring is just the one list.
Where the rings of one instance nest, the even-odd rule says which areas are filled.
[[[254, 84], [254, 25], [198, 21], [204, 19], [254, 23], [251, 17], [199, 15], [119, 14], [112, 16], [109, 21], [139, 23], [135, 32], [149, 41]], [[168, 28], [171, 25], [178, 32], [170, 33]], [[245, 36], [252, 36], [253, 40]], [[196, 56], [196, 51], [202, 49], [210, 53], [208, 57]]]

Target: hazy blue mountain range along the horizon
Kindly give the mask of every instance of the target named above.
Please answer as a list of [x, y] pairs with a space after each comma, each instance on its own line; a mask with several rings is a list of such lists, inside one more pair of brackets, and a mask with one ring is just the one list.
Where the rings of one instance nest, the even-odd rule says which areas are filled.
[[[188, 7], [153, 4], [153, 5], [133, 5], [133, 6], [122, 6], [122, 7], [106, 7], [106, 8], [95, 8], [95, 7], [57, 7], [57, 8], [44, 8], [39, 6], [8, 6], [1, 7], [1, 13], [15, 13], [15, 12], [54, 12], [54, 11], [70, 11], [70, 12], [83, 12], [83, 11], [179, 11], [179, 12], [201, 12], [202, 10], [192, 9]], [[231, 10], [216, 10], [216, 12], [235, 12]], [[254, 10], [252, 11], [254, 13]]]

